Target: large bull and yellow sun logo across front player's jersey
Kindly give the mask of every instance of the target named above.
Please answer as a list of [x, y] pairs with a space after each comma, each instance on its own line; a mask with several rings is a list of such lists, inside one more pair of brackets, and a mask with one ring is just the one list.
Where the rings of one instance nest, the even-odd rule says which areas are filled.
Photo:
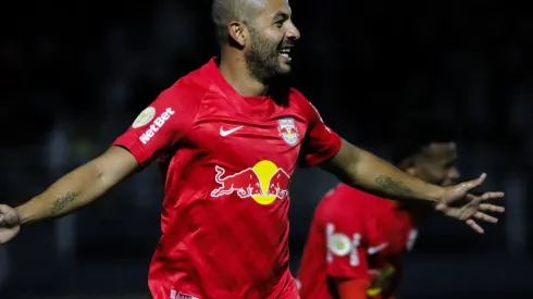
[[228, 175], [221, 166], [214, 170], [214, 180], [220, 187], [211, 191], [212, 197], [236, 194], [240, 198], [252, 198], [260, 204], [271, 204], [276, 198], [288, 198], [290, 176], [271, 161], [263, 160], [253, 167]]

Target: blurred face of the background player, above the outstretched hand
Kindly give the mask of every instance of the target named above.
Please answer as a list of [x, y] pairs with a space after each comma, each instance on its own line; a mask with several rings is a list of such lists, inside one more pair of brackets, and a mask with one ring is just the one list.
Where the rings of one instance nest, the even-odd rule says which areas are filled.
[[460, 177], [456, 160], [457, 147], [455, 142], [435, 142], [418, 154], [412, 169], [419, 178], [446, 187], [455, 185]]

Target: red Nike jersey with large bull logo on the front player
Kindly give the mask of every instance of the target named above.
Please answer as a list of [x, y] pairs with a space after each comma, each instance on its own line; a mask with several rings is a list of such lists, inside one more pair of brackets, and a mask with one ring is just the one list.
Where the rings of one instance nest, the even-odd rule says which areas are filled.
[[241, 97], [213, 60], [164, 90], [113, 145], [164, 173], [156, 299], [298, 298], [288, 267], [288, 188], [299, 162], [340, 138], [296, 89]]

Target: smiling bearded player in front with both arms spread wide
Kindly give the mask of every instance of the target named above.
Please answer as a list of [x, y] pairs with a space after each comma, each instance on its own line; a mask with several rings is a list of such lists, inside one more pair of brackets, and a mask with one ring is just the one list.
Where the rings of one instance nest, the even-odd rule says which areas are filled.
[[[215, 0], [219, 58], [162, 91], [103, 154], [42, 194], [0, 208], [0, 244], [28, 223], [87, 205], [139, 167], [164, 176], [162, 236], [149, 270], [153, 298], [294, 299], [288, 187], [297, 163], [351, 186], [431, 202], [479, 231], [501, 192], [426, 184], [343, 141], [296, 89], [284, 88], [300, 37], [286, 0]], [[275, 83], [274, 83], [275, 82]], [[451, 204], [457, 203], [457, 204]]]

